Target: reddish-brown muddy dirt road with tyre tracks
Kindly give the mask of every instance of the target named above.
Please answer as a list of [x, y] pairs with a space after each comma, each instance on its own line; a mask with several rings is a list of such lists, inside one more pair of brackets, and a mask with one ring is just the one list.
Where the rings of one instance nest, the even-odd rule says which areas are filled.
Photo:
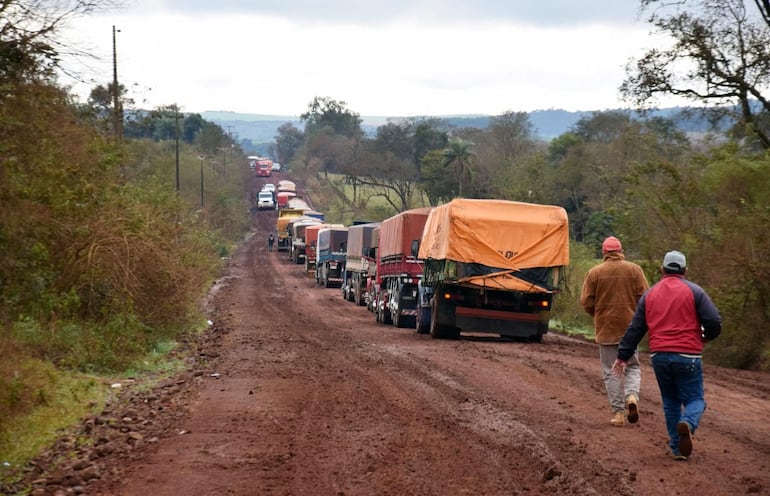
[[707, 366], [708, 408], [677, 462], [648, 356], [640, 420], [613, 427], [592, 343], [378, 324], [268, 253], [276, 214], [253, 215], [189, 370], [126, 386], [84, 420], [80, 461], [33, 494], [770, 494], [767, 374]]

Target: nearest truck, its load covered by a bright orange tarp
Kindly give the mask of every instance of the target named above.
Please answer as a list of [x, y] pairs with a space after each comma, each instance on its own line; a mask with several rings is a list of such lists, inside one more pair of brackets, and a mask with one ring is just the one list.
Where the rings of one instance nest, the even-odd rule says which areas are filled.
[[[461, 332], [542, 340], [554, 294], [569, 263], [566, 211], [504, 200], [455, 199], [435, 207], [418, 258], [421, 286], [432, 293], [434, 338]], [[422, 319], [418, 319], [420, 321]]]

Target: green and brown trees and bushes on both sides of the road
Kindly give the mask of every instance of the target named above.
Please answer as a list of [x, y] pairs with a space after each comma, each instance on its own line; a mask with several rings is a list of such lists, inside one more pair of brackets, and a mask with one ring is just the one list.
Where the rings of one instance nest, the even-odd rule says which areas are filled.
[[[620, 90], [639, 110], [593, 112], [544, 141], [513, 110], [485, 126], [425, 117], [367, 133], [344, 101], [319, 96], [269, 153], [338, 222], [455, 197], [564, 207], [564, 329], [590, 326], [577, 293], [605, 236], [651, 282], [681, 250], [724, 319], [707, 361], [770, 370], [770, 6], [641, 3], [673, 44], [629, 64]], [[94, 8], [73, 5], [0, 1], [0, 453], [11, 466], [102, 402], [103, 381], [180, 366], [169, 352], [205, 325], [201, 297], [249, 229], [244, 151], [221, 126], [174, 105], [136, 109], [115, 82], [87, 102], [58, 83], [57, 23]], [[696, 136], [641, 111], [663, 93], [719, 126]]]

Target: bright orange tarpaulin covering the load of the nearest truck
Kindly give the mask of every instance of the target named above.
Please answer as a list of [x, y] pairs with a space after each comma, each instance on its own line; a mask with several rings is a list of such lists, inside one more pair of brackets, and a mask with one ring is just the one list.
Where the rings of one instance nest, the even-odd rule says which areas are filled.
[[[428, 215], [419, 258], [508, 270], [564, 266], [569, 263], [567, 212], [505, 200], [452, 200]], [[483, 285], [480, 279], [472, 282]]]

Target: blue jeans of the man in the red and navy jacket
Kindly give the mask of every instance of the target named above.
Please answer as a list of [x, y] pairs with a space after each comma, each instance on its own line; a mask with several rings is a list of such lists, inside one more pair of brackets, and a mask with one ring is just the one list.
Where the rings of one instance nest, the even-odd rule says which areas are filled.
[[665, 352], [655, 353], [651, 361], [663, 400], [669, 446], [677, 453], [679, 434], [676, 424], [685, 421], [695, 432], [706, 409], [706, 401], [703, 399], [703, 362], [700, 358], [686, 358], [679, 353]]

